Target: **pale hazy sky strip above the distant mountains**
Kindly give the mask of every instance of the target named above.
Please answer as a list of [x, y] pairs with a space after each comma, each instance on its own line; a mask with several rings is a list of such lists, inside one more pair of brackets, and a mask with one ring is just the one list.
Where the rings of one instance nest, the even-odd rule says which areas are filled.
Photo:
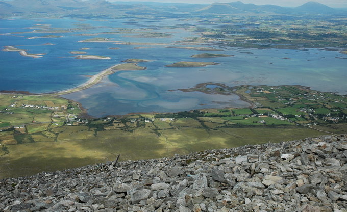
[[[111, 0], [110, 2], [115, 1], [125, 1], [125, 0]], [[133, 0], [136, 2], [165, 2], [165, 3], [189, 3], [189, 4], [208, 4], [208, 3], [214, 3], [214, 2], [220, 2], [220, 3], [229, 3], [229, 2], [235, 2], [238, 0], [193, 0], [193, 1], [187, 1], [187, 0]], [[296, 7], [305, 4], [306, 2], [312, 1], [312, 0], [240, 0], [243, 3], [253, 3], [256, 5], [278, 5], [278, 6], [284, 6], [284, 7]], [[321, 4], [328, 5], [329, 7], [344, 7], [347, 8], [347, 0], [313, 0], [314, 2], [319, 2]]]

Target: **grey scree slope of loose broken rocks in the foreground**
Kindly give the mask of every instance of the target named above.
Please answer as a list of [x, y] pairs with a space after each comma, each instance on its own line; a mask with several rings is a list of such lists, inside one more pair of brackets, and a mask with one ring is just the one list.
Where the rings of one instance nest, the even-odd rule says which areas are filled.
[[0, 181], [1, 211], [347, 211], [347, 135]]

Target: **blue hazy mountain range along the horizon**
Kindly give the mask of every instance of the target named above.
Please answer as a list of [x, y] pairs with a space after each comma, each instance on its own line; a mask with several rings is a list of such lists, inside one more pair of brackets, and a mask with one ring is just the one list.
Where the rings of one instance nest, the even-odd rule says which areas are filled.
[[[111, 1], [111, 0], [110, 0]], [[0, 16], [11, 14], [60, 15], [150, 15], [153, 17], [180, 17], [183, 14], [345, 14], [317, 2], [300, 7], [285, 8], [276, 5], [255, 5], [242, 2], [213, 4], [182, 4], [154, 2], [109, 2], [106, 0], [0, 0]]]

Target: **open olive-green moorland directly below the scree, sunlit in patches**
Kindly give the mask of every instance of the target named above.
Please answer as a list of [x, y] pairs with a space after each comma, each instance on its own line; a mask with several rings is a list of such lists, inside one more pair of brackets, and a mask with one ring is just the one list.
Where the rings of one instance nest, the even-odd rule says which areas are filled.
[[[184, 119], [181, 124], [185, 123]], [[308, 128], [222, 127], [208, 130], [181, 126], [180, 129], [159, 129], [158, 136], [155, 131], [136, 127], [136, 124], [132, 131], [101, 130], [96, 136], [93, 129], [85, 126], [63, 126], [51, 131], [51, 135], [16, 136], [20, 144], [7, 145], [9, 153], [2, 156], [0, 178], [105, 162], [114, 160], [118, 154], [121, 160], [159, 158], [176, 153], [266, 143], [269, 138], [272, 142], [279, 142], [325, 134]], [[55, 134], [58, 137], [53, 142]]]

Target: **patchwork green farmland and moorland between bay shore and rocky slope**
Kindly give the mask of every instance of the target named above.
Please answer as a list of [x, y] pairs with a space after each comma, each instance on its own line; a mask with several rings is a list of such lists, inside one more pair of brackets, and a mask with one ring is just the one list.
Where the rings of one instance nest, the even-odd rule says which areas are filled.
[[[345, 105], [345, 96], [296, 86], [223, 88], [221, 93], [235, 92], [258, 107], [133, 114], [82, 123], [71, 115], [81, 112], [77, 102], [54, 96], [0, 95], [0, 127], [8, 130], [0, 131], [4, 147], [0, 150], [0, 178], [105, 162], [118, 154], [121, 160], [169, 157], [347, 130], [343, 116], [347, 109], [336, 108], [337, 103]], [[199, 89], [205, 87], [190, 91]], [[247, 90], [250, 92], [245, 93]], [[315, 99], [317, 95], [326, 98]], [[264, 113], [281, 116], [276, 119], [261, 115]], [[340, 115], [339, 123], [327, 120], [329, 113]]]

